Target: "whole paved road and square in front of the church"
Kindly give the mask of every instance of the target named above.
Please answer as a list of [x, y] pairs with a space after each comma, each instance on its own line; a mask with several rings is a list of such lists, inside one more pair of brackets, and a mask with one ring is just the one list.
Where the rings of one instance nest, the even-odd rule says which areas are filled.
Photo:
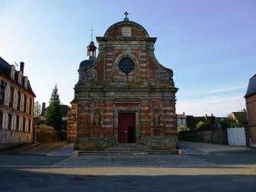
[[0, 155], [0, 191], [255, 191], [256, 150], [181, 144], [187, 154]]

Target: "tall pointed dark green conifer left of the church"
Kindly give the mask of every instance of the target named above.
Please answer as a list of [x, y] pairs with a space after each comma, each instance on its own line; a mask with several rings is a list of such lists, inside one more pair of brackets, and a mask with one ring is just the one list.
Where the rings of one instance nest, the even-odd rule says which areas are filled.
[[61, 130], [62, 128], [62, 114], [60, 110], [60, 101], [57, 85], [53, 88], [51, 98], [49, 101], [49, 107], [46, 111], [46, 124], [53, 126], [55, 130]]

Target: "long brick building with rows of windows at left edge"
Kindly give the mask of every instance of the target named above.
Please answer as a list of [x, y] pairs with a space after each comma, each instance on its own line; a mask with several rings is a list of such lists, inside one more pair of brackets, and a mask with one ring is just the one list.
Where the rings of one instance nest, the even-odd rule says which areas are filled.
[[0, 57], [0, 143], [32, 141], [35, 97], [24, 62], [17, 71]]

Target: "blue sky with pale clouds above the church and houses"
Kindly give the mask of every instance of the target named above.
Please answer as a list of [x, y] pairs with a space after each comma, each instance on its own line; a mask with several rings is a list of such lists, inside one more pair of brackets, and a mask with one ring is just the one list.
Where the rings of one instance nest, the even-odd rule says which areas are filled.
[[128, 11], [158, 38], [155, 56], [174, 71], [177, 113], [226, 117], [245, 108], [256, 72], [255, 10], [255, 0], [0, 0], [0, 56], [25, 62], [36, 101], [48, 103], [58, 85], [69, 104], [91, 25], [103, 37]]

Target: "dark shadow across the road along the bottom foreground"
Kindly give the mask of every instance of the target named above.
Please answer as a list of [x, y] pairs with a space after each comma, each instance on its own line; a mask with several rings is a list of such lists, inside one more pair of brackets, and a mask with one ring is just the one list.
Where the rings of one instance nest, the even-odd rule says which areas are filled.
[[0, 191], [255, 191], [253, 175], [103, 176], [0, 169]]

